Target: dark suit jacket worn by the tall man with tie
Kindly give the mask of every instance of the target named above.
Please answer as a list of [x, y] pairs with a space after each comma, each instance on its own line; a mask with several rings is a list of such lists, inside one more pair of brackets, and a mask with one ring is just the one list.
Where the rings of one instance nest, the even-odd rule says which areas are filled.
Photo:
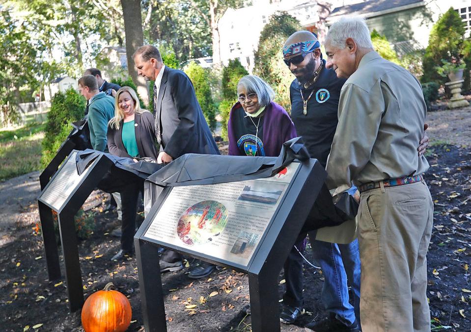
[[173, 159], [185, 153], [220, 154], [193, 84], [184, 72], [164, 68], [155, 109], [162, 136], [161, 151]]

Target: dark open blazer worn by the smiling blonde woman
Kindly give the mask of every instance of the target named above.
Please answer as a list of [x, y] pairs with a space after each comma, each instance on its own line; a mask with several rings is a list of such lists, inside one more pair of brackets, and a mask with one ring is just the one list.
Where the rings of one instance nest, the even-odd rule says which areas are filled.
[[[159, 151], [155, 146], [155, 128], [154, 117], [151, 112], [144, 111], [134, 115], [134, 132], [136, 134], [136, 143], [138, 144], [139, 156], [151, 157], [157, 160]], [[137, 126], [136, 126], [137, 125]], [[119, 157], [132, 158], [128, 154], [123, 144], [123, 121], [119, 124], [119, 129], [108, 126], [108, 150], [113, 155]]]

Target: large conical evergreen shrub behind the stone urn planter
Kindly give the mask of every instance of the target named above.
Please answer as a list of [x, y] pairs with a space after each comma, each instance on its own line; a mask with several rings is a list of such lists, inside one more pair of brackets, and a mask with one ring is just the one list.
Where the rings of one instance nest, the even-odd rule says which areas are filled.
[[[434, 67], [440, 64], [442, 59], [450, 63], [461, 63], [462, 57], [466, 57], [464, 51], [469, 49], [469, 41], [464, 38], [464, 34], [465, 27], [460, 15], [453, 8], [448, 9], [430, 32], [428, 46], [423, 56], [422, 82], [443, 84], [447, 81]], [[467, 62], [467, 69], [471, 69], [471, 62]], [[464, 87], [469, 88], [469, 75]]]

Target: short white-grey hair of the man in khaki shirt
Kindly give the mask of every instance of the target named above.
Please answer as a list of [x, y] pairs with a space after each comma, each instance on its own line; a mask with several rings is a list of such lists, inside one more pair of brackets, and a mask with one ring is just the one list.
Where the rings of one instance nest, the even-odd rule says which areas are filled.
[[372, 49], [371, 35], [366, 22], [361, 17], [342, 17], [329, 27], [325, 44], [343, 49], [347, 38], [352, 38], [358, 47]]

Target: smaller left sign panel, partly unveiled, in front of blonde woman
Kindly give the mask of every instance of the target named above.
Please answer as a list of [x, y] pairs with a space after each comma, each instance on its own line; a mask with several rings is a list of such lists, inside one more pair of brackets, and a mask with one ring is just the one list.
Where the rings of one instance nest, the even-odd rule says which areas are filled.
[[73, 193], [80, 181], [87, 176], [92, 168], [88, 166], [85, 172], [79, 175], [75, 165], [76, 155], [76, 152], [71, 153], [56, 176], [51, 180], [41, 196], [39, 196], [39, 199], [50, 205], [56, 211], [60, 210], [67, 198]]

